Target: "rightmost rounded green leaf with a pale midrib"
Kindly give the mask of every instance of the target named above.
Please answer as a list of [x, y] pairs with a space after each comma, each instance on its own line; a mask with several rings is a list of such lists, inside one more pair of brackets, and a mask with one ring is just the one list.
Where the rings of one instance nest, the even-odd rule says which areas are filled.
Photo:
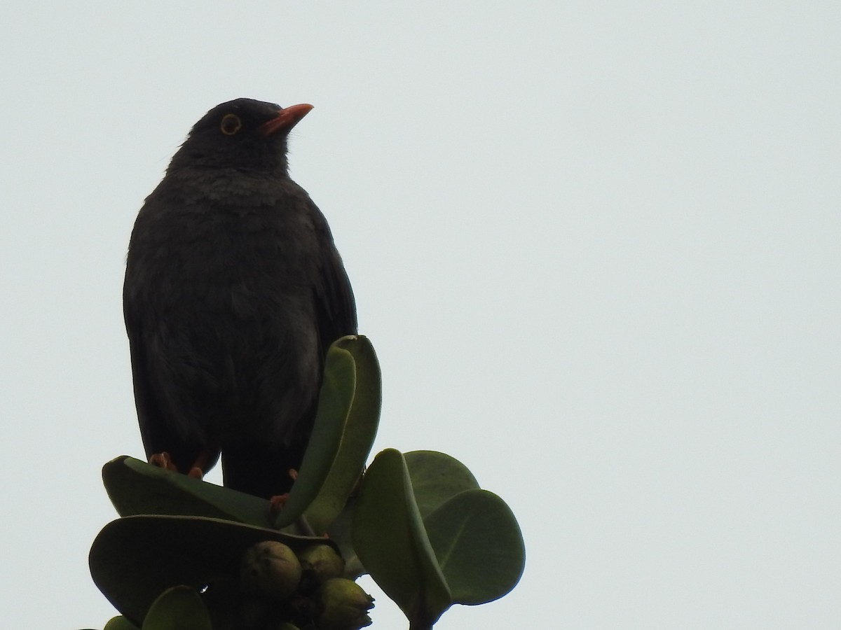
[[452, 601], [484, 604], [520, 580], [526, 563], [520, 526], [493, 492], [461, 492], [426, 517], [425, 524]]

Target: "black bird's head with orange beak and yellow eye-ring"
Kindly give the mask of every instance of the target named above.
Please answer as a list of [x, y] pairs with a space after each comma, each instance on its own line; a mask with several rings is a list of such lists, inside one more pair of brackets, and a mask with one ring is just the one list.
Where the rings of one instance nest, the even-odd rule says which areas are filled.
[[170, 170], [183, 166], [287, 173], [286, 139], [312, 105], [282, 108], [237, 98], [211, 109], [193, 125]]

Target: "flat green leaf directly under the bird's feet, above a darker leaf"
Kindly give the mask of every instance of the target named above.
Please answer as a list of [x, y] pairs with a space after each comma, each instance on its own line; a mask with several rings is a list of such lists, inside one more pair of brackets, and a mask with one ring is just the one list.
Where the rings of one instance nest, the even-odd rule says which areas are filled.
[[120, 516], [173, 514], [271, 527], [265, 499], [216, 486], [122, 455], [103, 466], [103, 483]]

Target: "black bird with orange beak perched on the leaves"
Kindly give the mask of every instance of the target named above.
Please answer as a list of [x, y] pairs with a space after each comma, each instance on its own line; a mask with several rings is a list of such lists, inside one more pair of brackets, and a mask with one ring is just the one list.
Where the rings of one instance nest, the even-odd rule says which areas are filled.
[[270, 497], [292, 486], [330, 344], [357, 332], [324, 215], [288, 175], [311, 105], [211, 109], [146, 197], [123, 290], [135, 404], [152, 463]]

